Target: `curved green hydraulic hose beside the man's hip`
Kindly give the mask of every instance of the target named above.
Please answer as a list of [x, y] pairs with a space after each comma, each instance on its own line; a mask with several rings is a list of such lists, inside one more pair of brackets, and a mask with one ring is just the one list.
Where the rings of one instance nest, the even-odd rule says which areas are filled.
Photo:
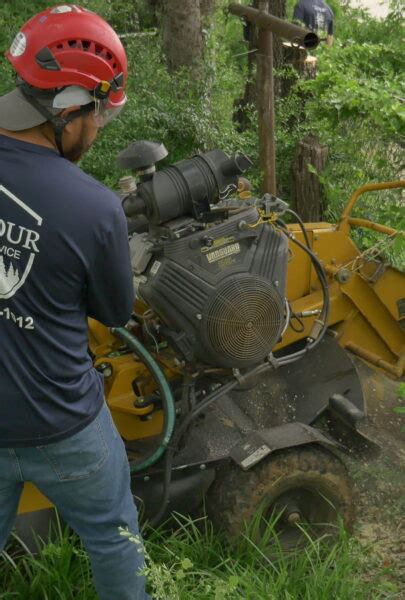
[[176, 420], [176, 409], [174, 405], [174, 398], [170, 389], [169, 383], [159, 367], [153, 356], [146, 350], [145, 346], [141, 344], [137, 337], [132, 335], [125, 327], [112, 327], [111, 333], [116, 337], [120, 338], [130, 348], [134, 354], [143, 362], [143, 364], [151, 371], [158, 388], [161, 393], [163, 407], [164, 407], [164, 430], [163, 439], [156, 448], [156, 450], [145, 460], [136, 465], [130, 464], [130, 470], [132, 473], [138, 473], [154, 465], [159, 458], [165, 453], [166, 448], [173, 435], [174, 423]]

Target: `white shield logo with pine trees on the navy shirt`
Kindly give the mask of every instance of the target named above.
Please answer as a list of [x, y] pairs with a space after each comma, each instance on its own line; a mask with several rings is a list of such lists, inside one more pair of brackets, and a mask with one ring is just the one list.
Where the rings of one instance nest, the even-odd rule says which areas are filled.
[[[1, 208], [7, 202], [19, 210], [12, 210], [13, 217], [2, 218]], [[26, 281], [39, 252], [41, 225], [42, 217], [0, 185], [0, 300], [14, 296]]]

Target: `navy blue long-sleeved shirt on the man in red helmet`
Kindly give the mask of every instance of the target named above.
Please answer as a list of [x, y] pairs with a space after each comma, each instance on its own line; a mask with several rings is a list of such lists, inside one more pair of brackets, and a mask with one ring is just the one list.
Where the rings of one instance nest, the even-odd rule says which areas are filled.
[[0, 135], [0, 446], [77, 433], [103, 403], [87, 317], [133, 306], [119, 198], [55, 151]]

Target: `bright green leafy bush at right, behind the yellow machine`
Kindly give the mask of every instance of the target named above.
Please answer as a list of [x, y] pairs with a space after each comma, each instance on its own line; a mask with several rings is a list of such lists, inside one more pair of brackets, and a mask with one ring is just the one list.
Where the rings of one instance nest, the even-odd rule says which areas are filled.
[[[358, 187], [403, 176], [404, 55], [399, 5], [397, 0], [391, 3], [385, 20], [342, 5], [334, 45], [316, 50], [317, 77], [297, 81], [279, 106], [282, 155], [291, 157], [296, 141], [308, 133], [318, 135], [328, 147], [320, 178], [331, 221], [339, 218]], [[288, 195], [289, 160], [287, 164], [287, 168], [280, 165], [279, 173]], [[362, 196], [354, 212], [359, 214], [405, 229], [405, 201], [398, 190]], [[355, 238], [362, 248], [379, 239], [368, 230], [356, 231]], [[405, 269], [404, 238], [395, 240], [388, 258]]]

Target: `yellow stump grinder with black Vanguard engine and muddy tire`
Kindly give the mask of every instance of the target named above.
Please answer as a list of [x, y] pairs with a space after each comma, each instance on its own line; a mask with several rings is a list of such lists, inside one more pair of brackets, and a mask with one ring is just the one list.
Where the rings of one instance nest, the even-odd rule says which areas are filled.
[[[405, 372], [405, 274], [361, 252], [351, 216], [304, 224], [280, 199], [255, 198], [250, 161], [220, 150], [156, 170], [167, 152], [136, 142], [119, 156], [136, 302], [123, 328], [89, 321], [89, 352], [125, 441], [133, 493], [156, 524], [196, 514], [238, 535], [258, 510], [350, 528], [342, 452], [374, 445], [367, 399]], [[286, 220], [293, 221], [286, 223]], [[25, 486], [18, 527], [49, 501]], [[48, 510], [47, 510], [48, 509]], [[197, 513], [198, 514], [198, 513]]]

